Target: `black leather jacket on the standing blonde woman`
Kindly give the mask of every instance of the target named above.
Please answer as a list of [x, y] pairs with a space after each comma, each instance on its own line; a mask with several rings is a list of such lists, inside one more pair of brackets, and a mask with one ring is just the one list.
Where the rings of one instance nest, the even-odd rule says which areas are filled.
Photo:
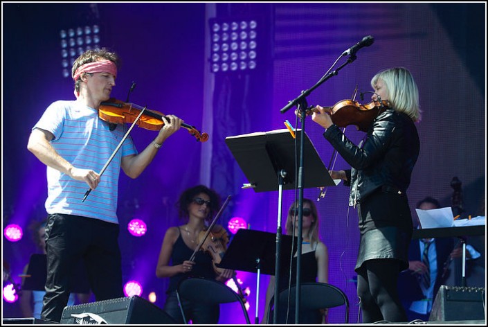
[[386, 109], [372, 122], [361, 148], [336, 125], [327, 128], [323, 136], [352, 167], [347, 172], [351, 174], [350, 205], [355, 206], [381, 186], [406, 192], [420, 148], [417, 127], [409, 116]]

